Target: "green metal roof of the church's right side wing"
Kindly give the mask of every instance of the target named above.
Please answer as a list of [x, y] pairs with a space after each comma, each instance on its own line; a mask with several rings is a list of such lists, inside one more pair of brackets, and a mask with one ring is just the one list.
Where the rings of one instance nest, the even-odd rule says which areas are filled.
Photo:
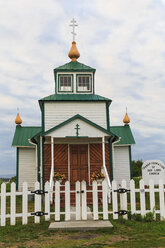
[[116, 134], [120, 141], [116, 143], [116, 145], [133, 145], [135, 144], [135, 140], [133, 134], [131, 132], [131, 128], [129, 125], [125, 126], [112, 126], [110, 127], [110, 131]]

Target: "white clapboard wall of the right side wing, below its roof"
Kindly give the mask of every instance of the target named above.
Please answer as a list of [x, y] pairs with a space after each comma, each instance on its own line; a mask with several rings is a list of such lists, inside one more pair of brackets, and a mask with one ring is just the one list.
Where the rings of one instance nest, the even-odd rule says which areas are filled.
[[130, 160], [128, 146], [114, 147], [114, 163], [113, 163], [113, 179], [117, 181], [120, 186], [123, 179], [127, 182], [129, 187], [130, 181]]

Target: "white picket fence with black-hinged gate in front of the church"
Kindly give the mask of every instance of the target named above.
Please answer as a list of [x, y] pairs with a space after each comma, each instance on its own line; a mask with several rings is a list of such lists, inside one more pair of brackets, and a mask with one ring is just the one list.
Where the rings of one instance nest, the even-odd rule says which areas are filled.
[[[126, 189], [125, 180], [122, 181], [121, 188]], [[40, 184], [36, 182], [35, 190], [39, 189]], [[11, 184], [11, 192], [6, 192], [6, 184], [3, 183], [1, 185], [0, 193], [0, 225], [5, 226], [8, 219], [10, 220], [10, 225], [15, 225], [17, 218], [22, 219], [22, 224], [27, 224], [29, 217], [34, 218], [35, 223], [39, 223], [41, 216], [34, 215], [35, 213], [38, 215], [45, 213], [45, 221], [49, 221], [52, 215], [55, 221], [60, 221], [61, 215], [64, 215], [65, 221], [69, 221], [71, 219], [71, 215], [75, 215], [76, 220], [87, 220], [88, 215], [91, 214], [92, 211], [93, 220], [98, 220], [100, 216], [102, 216], [103, 220], [107, 220], [109, 218], [109, 214], [113, 216], [113, 219], [118, 219], [119, 215], [122, 213], [122, 210], [124, 210], [125, 215], [123, 215], [123, 218], [127, 219], [128, 209], [131, 214], [141, 214], [142, 216], [145, 216], [147, 212], [154, 212], [155, 217], [157, 214], [160, 215], [160, 220], [165, 218], [165, 188], [162, 181], [159, 182], [158, 187], [154, 187], [154, 184], [151, 181], [149, 187], [145, 188], [144, 181], [141, 180], [139, 188], [135, 188], [135, 182], [134, 180], [131, 180], [129, 189], [130, 192], [119, 194], [116, 191], [116, 181], [112, 182], [112, 188], [109, 189], [106, 180], [104, 180], [102, 182], [102, 187], [98, 186], [97, 182], [94, 181], [91, 189], [88, 190], [86, 182], [83, 181], [76, 182], [75, 189], [70, 190], [70, 183], [67, 181], [65, 185], [60, 185], [59, 182], [56, 182], [55, 190], [52, 192], [50, 190], [50, 184], [47, 182], [45, 184], [46, 193], [44, 194], [44, 197], [42, 197], [40, 194], [34, 194], [29, 191], [28, 184], [26, 182], [23, 183], [22, 192], [16, 191], [15, 183]], [[50, 198], [52, 193], [54, 204], [51, 206]], [[71, 194], [75, 195], [74, 211], [73, 208], [71, 208]], [[89, 194], [92, 195], [91, 209], [87, 207]], [[108, 203], [108, 194], [111, 194], [111, 204]], [[34, 195], [33, 212], [29, 211], [28, 197], [30, 195]], [[63, 195], [65, 199], [64, 207], [62, 208], [61, 195]], [[102, 203], [98, 200], [100, 195]], [[140, 201], [137, 201], [137, 197]], [[130, 201], [128, 201], [128, 198]], [[18, 206], [16, 207], [16, 205], [18, 205], [17, 201], [21, 202], [21, 206], [19, 206], [19, 209], [21, 209], [20, 212], [18, 212]]]

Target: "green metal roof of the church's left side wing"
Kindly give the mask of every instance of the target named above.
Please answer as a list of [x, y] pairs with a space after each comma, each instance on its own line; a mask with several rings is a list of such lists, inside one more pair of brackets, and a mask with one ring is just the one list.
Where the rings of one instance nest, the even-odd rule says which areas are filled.
[[32, 146], [28, 139], [41, 132], [41, 127], [16, 126], [12, 146]]

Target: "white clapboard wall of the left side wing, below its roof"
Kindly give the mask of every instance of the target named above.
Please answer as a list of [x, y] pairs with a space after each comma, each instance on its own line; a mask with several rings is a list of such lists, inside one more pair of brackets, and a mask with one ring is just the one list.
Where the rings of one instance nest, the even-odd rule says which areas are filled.
[[37, 181], [36, 150], [35, 148], [19, 148], [18, 189], [22, 190], [23, 182], [28, 183], [29, 189], [34, 189]]

